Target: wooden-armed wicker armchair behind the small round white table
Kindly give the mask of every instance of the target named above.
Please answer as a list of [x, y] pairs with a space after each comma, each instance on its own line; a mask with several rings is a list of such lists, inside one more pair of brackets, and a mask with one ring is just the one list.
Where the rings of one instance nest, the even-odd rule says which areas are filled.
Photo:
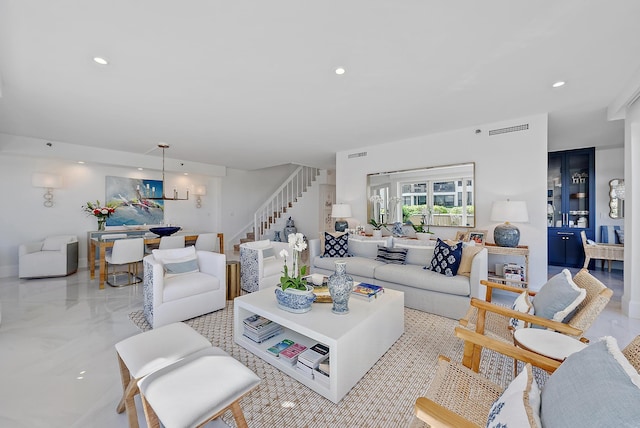
[[[514, 346], [513, 329], [509, 325], [511, 318], [517, 318], [530, 324], [536, 324], [559, 333], [580, 338], [607, 305], [613, 295], [613, 290], [607, 288], [586, 269], [580, 270], [580, 272], [573, 277], [573, 281], [578, 287], [585, 289], [587, 295], [576, 308], [575, 315], [568, 324], [492, 304], [490, 302], [494, 288], [514, 293], [522, 293], [526, 290], [505, 284], [481, 281], [481, 283], [487, 287], [486, 301], [471, 299], [471, 307], [467, 314], [460, 320], [460, 325], [466, 329], [473, 330], [511, 346]], [[536, 293], [529, 291], [529, 295], [535, 296], [535, 294]], [[588, 342], [586, 338], [581, 338], [581, 340]], [[463, 365], [477, 372], [480, 366], [481, 349], [478, 345], [468, 342], [465, 343]]]

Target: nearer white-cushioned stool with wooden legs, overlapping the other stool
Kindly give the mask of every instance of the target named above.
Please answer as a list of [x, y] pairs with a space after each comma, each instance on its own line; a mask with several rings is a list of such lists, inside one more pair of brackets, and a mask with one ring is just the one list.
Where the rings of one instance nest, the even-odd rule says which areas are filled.
[[240, 399], [260, 378], [219, 348], [209, 348], [157, 370], [138, 381], [150, 428], [200, 427], [231, 410], [246, 428]]

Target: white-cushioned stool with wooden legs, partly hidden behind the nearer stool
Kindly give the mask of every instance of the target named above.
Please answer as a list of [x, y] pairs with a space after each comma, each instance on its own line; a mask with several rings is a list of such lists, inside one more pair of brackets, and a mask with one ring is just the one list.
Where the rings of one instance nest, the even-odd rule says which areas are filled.
[[123, 393], [117, 412], [126, 410], [129, 426], [137, 428], [138, 415], [134, 401], [139, 392], [137, 381], [187, 355], [207, 348], [212, 348], [211, 342], [181, 322], [158, 327], [118, 342], [116, 353]]

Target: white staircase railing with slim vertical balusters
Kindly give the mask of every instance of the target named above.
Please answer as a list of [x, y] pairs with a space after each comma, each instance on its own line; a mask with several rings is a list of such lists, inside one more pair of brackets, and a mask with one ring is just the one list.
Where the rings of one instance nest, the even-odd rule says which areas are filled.
[[273, 194], [267, 198], [266, 202], [258, 208], [253, 215], [253, 224], [248, 225], [249, 232], [244, 238], [240, 238], [239, 244], [234, 244], [233, 251], [240, 251], [240, 244], [263, 239], [270, 235], [270, 230], [276, 222], [282, 218], [287, 209], [293, 207], [298, 202], [298, 198], [316, 181], [320, 175], [318, 168], [310, 166], [299, 166], [282, 183]]

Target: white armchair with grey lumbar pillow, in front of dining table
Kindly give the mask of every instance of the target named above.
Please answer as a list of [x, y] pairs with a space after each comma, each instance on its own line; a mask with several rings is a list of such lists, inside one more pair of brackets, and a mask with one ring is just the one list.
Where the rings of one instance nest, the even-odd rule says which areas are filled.
[[[197, 260], [195, 270], [180, 265]], [[153, 327], [184, 321], [226, 305], [226, 257], [193, 246], [153, 250], [143, 259], [144, 315]]]

